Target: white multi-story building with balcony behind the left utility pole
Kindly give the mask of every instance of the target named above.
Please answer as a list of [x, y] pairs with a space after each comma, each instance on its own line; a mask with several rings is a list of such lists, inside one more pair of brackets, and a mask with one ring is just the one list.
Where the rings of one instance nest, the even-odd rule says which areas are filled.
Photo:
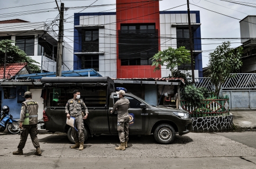
[[[0, 21], [0, 40], [15, 41], [19, 49], [39, 63], [40, 68], [43, 62], [43, 72], [56, 71], [57, 38], [58, 35], [45, 22]], [[67, 42], [63, 45], [62, 70], [73, 70], [73, 48]]]

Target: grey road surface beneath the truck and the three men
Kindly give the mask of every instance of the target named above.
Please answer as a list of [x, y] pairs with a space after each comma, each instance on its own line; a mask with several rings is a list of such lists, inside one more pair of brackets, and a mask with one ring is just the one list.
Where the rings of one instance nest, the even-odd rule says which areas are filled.
[[130, 136], [125, 151], [115, 150], [119, 144], [117, 135], [100, 135], [90, 137], [84, 144], [85, 149], [79, 151], [69, 148], [72, 144], [64, 134], [41, 134], [38, 138], [42, 156], [34, 155], [30, 138], [24, 155], [15, 156], [12, 152], [17, 150], [19, 135], [0, 133], [0, 168], [256, 169], [256, 149], [231, 140], [228, 135], [231, 134], [189, 133], [176, 136], [169, 145], [155, 143], [153, 135]]

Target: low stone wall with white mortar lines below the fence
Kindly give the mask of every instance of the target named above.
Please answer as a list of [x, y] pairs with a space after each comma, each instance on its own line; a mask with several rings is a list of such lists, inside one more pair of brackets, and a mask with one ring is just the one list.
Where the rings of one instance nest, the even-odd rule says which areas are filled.
[[192, 118], [193, 131], [212, 131], [231, 129], [233, 124], [233, 115], [220, 117], [202, 117]]

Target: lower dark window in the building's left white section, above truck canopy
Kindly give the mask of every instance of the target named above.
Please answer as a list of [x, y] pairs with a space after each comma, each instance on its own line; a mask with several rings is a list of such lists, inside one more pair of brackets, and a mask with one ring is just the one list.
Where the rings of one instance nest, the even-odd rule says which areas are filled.
[[85, 55], [82, 58], [82, 69], [93, 68], [99, 71], [99, 55]]

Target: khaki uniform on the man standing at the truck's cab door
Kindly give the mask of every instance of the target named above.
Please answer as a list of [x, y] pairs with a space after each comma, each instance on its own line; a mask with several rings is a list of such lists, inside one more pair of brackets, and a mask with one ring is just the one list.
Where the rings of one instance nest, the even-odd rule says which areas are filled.
[[113, 112], [118, 109], [118, 134], [120, 143], [125, 143], [128, 141], [129, 135], [129, 109], [130, 102], [126, 98], [120, 98], [113, 107]]

